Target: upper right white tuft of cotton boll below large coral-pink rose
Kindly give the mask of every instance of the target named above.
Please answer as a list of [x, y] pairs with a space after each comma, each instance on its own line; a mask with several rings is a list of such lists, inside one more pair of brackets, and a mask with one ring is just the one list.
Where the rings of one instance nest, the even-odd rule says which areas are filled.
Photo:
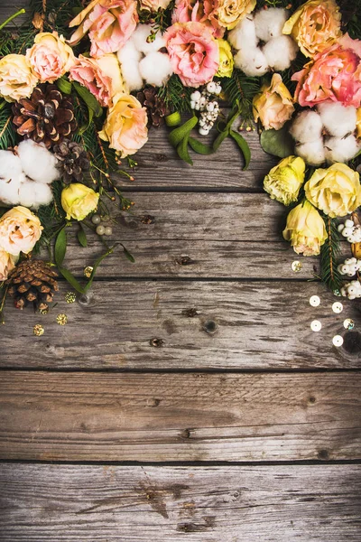
[[344, 107], [335, 102], [319, 104], [317, 109], [329, 135], [343, 137], [356, 130], [355, 107]]

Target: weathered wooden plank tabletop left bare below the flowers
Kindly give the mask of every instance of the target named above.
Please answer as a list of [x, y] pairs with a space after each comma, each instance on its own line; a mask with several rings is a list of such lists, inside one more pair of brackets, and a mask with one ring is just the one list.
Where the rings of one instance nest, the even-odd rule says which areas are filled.
[[[343, 327], [359, 308], [332, 312], [317, 258], [292, 271], [262, 191], [273, 159], [246, 136], [244, 173], [233, 142], [190, 168], [154, 130], [120, 182], [136, 205], [113, 237], [135, 264], [107, 258], [88, 304], [65, 283], [48, 315], [8, 304], [1, 540], [361, 539], [360, 335]], [[74, 243], [69, 267], [100, 251]]]

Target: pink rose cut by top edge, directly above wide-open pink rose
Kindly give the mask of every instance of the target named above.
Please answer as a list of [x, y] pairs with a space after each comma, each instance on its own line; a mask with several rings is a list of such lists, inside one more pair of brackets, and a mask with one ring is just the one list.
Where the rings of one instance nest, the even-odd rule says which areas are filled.
[[225, 28], [218, 23], [218, 4], [218, 0], [176, 0], [171, 22], [203, 23], [211, 29], [215, 38], [222, 38]]

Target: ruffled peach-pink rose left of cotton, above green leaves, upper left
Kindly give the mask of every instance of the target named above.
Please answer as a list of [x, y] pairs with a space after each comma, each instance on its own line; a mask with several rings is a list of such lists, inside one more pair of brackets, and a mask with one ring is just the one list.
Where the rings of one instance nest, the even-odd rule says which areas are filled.
[[102, 107], [108, 107], [113, 96], [125, 91], [119, 62], [113, 53], [99, 59], [88, 59], [80, 54], [77, 63], [70, 68], [69, 79], [86, 87]]

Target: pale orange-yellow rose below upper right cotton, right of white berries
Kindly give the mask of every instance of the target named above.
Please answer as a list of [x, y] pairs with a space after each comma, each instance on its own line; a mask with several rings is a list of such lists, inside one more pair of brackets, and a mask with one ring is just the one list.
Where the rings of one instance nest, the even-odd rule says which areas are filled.
[[255, 122], [260, 119], [266, 130], [279, 130], [292, 117], [292, 96], [279, 73], [273, 73], [271, 84], [264, 85], [255, 95], [253, 110]]

